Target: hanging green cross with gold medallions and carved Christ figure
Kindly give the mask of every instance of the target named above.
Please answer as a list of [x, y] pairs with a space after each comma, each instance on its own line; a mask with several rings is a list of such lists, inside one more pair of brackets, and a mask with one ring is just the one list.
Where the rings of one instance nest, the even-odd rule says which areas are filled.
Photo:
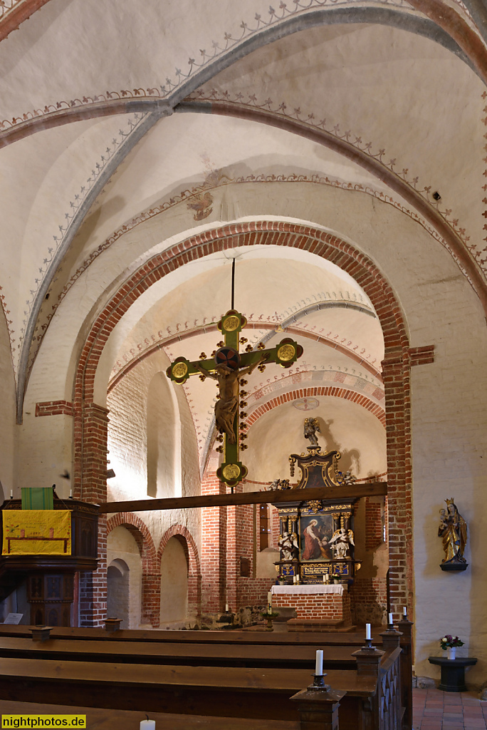
[[220, 347], [215, 351], [214, 357], [205, 359], [203, 354], [201, 360], [192, 362], [183, 357], [176, 358], [166, 371], [174, 383], [182, 384], [188, 377], [196, 374], [200, 375], [201, 380], [206, 377], [217, 380], [219, 398], [215, 404], [215, 420], [220, 433], [218, 440], [222, 442], [217, 451], [224, 455], [223, 463], [217, 469], [217, 476], [230, 487], [238, 484], [247, 474], [246, 466], [239, 461], [240, 449], [246, 449], [246, 445], [241, 444], [246, 439], [246, 424], [240, 423], [239, 419], [246, 418], [247, 414], [244, 410], [238, 410], [246, 407], [244, 397], [247, 393], [240, 390], [240, 385], [246, 385], [247, 382], [243, 380], [244, 375], [251, 374], [256, 367], [262, 372], [269, 363], [291, 367], [303, 355], [303, 347], [289, 337], [269, 350], [251, 350], [248, 345], [249, 351], [239, 353], [240, 332], [246, 323], [244, 315], [236, 310], [229, 310], [218, 323], [224, 341], [219, 342]]

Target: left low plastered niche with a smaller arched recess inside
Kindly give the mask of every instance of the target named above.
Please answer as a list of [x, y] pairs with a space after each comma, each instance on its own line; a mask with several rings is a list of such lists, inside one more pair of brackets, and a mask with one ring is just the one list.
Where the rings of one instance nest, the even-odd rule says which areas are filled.
[[[139, 629], [141, 555], [136, 539], [121, 525], [110, 531], [106, 539], [106, 564], [107, 615], [122, 618], [122, 629]], [[124, 592], [123, 596], [120, 596], [119, 588]]]

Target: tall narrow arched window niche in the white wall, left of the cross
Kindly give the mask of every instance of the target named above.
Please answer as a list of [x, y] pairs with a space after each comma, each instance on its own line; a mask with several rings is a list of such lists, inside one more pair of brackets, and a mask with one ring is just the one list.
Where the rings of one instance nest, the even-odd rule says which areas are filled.
[[168, 378], [157, 372], [147, 393], [147, 495], [179, 496], [181, 429]]

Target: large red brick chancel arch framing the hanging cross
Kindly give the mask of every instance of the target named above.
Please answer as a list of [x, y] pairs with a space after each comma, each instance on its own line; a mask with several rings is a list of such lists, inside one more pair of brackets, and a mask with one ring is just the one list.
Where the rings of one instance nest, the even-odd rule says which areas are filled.
[[192, 236], [158, 253], [130, 275], [90, 328], [74, 383], [74, 488], [88, 501], [106, 500], [107, 411], [93, 403], [96, 369], [109, 335], [130, 306], [152, 284], [191, 261], [238, 246], [295, 247], [343, 269], [362, 287], [381, 322], [385, 358], [383, 383], [389, 480], [389, 544], [397, 553], [389, 570], [391, 610], [412, 594], [410, 461], [410, 350], [405, 320], [394, 291], [378, 266], [335, 234], [284, 221], [231, 223]]

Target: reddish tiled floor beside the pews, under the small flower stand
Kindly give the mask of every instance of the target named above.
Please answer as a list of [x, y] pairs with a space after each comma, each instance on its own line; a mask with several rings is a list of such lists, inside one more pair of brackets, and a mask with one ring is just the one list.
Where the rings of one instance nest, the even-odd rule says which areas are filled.
[[475, 692], [413, 690], [414, 730], [486, 730], [487, 701]]

